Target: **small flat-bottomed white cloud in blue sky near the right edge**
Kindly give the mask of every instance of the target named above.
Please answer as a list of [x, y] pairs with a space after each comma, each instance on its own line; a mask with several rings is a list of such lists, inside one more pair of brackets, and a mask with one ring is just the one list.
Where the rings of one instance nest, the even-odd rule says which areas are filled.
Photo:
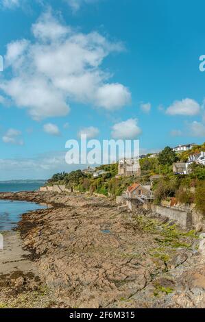
[[182, 99], [182, 101], [174, 101], [166, 111], [169, 115], [197, 115], [200, 113], [200, 105], [193, 99]]

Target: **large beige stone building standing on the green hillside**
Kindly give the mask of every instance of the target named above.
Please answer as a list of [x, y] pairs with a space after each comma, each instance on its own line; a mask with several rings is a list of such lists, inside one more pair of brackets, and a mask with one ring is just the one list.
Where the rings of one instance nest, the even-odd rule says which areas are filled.
[[141, 175], [138, 158], [123, 158], [119, 160], [118, 177], [134, 177]]

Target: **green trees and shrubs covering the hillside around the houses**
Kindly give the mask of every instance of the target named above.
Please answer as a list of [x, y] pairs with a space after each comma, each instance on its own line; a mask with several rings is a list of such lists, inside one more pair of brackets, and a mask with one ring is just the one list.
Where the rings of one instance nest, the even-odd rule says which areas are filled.
[[180, 203], [195, 203], [205, 214], [205, 166], [193, 163], [191, 173], [188, 175], [175, 175], [172, 171], [173, 162], [186, 161], [191, 154], [200, 151], [205, 151], [205, 143], [182, 153], [176, 153], [170, 147], [165, 147], [156, 158], [150, 158], [147, 155], [140, 160], [140, 177], [116, 177], [118, 164], [106, 164], [96, 168], [96, 171], [106, 171], [97, 178], [77, 170], [71, 173], [57, 173], [48, 180], [47, 184], [65, 184], [68, 188], [73, 187], [80, 192], [88, 191], [91, 194], [99, 193], [115, 197], [121, 195], [123, 190], [133, 182], [149, 184], [152, 175], [160, 175], [161, 177], [154, 181], [152, 188], [155, 203], [174, 197]]

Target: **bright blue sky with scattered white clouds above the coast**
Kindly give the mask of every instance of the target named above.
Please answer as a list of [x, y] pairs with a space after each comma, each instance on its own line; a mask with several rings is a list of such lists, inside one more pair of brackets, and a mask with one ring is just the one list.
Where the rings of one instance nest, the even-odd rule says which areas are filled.
[[0, 179], [70, 171], [79, 132], [143, 153], [204, 142], [204, 1], [0, 3]]

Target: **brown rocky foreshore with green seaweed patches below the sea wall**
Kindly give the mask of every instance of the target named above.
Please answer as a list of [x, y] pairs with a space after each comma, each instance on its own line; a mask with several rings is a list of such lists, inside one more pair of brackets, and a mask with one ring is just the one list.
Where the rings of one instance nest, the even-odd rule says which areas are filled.
[[[202, 236], [142, 208], [118, 210], [114, 201], [101, 197], [28, 192], [0, 193], [0, 199], [50, 205], [24, 214], [18, 227], [22, 247], [38, 269], [36, 288], [47, 288], [41, 295], [44, 307], [205, 306]], [[34, 279], [22, 283], [34, 288]], [[2, 282], [0, 302], [4, 289], [12, 287]]]

